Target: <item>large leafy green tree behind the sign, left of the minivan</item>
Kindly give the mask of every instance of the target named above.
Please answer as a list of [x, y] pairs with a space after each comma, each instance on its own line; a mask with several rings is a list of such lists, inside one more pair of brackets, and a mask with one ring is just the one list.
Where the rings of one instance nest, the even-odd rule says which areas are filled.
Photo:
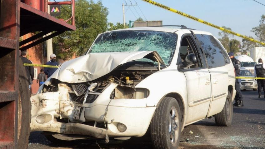
[[[64, 8], [71, 12], [71, 7]], [[70, 18], [71, 14], [68, 12], [62, 12], [59, 17], [65, 20]], [[76, 31], [67, 31], [53, 38], [53, 47], [57, 50], [57, 56], [66, 60], [83, 55], [97, 35], [107, 31], [107, 16], [108, 9], [103, 7], [101, 1], [95, 3], [93, 0], [76, 0]]]

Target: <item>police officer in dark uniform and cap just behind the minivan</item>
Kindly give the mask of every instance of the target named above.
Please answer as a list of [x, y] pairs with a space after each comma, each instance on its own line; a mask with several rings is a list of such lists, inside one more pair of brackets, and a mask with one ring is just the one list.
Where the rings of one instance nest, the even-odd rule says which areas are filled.
[[[240, 76], [240, 68], [239, 68], [240, 62], [234, 57], [233, 52], [229, 52], [228, 55], [229, 55], [233, 65], [234, 65], [234, 68], [236, 71], [236, 77], [239, 77]], [[244, 106], [243, 97], [242, 97], [239, 83], [241, 83], [241, 79], [236, 79], [235, 88], [236, 88], [237, 93], [236, 93], [236, 97], [235, 97], [236, 102], [234, 103], [234, 106], [243, 107]]]

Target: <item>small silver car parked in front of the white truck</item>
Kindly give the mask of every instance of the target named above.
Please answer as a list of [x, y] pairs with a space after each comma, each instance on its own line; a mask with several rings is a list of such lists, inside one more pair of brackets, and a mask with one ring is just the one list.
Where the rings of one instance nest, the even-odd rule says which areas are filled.
[[[254, 75], [245, 69], [244, 67], [240, 68], [240, 77], [254, 77]], [[255, 79], [241, 79], [240, 89], [253, 89], [253, 91], [257, 91], [257, 80]]]

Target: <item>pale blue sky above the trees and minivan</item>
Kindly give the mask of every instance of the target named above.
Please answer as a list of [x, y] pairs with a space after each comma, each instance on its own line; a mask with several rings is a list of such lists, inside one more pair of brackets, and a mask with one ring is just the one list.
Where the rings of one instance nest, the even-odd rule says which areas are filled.
[[[97, 0], [94, 0], [97, 2]], [[265, 4], [264, 0], [257, 0]], [[200, 22], [194, 21], [179, 14], [170, 12], [168, 10], [159, 8], [148, 2], [142, 0], [102, 0], [104, 7], [108, 8], [108, 22], [116, 24], [123, 23], [122, 3], [133, 5], [137, 2], [138, 6], [124, 7], [125, 21], [136, 20], [138, 17], [145, 17], [149, 21], [162, 20], [163, 25], [185, 25], [189, 28], [211, 32], [215, 37], [218, 37], [218, 30], [216, 28], [207, 26]], [[265, 6], [253, 0], [155, 0], [168, 7], [174, 8], [178, 11], [187, 13], [194, 17], [200, 18], [204, 21], [213, 23], [217, 26], [230, 27], [232, 31], [242, 35], [251, 35], [257, 38], [253, 32], [252, 27], [259, 24], [259, 20], [265, 12]], [[142, 12], [140, 11], [140, 9]], [[139, 14], [139, 15], [138, 15]], [[242, 38], [235, 36], [237, 40], [242, 41]]]

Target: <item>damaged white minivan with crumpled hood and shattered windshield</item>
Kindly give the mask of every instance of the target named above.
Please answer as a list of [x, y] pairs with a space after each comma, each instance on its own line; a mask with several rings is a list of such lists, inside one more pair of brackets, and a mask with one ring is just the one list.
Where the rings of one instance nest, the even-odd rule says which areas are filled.
[[130, 139], [176, 149], [185, 126], [232, 122], [235, 72], [209, 32], [141, 27], [104, 32], [31, 97], [31, 131], [52, 141]]

